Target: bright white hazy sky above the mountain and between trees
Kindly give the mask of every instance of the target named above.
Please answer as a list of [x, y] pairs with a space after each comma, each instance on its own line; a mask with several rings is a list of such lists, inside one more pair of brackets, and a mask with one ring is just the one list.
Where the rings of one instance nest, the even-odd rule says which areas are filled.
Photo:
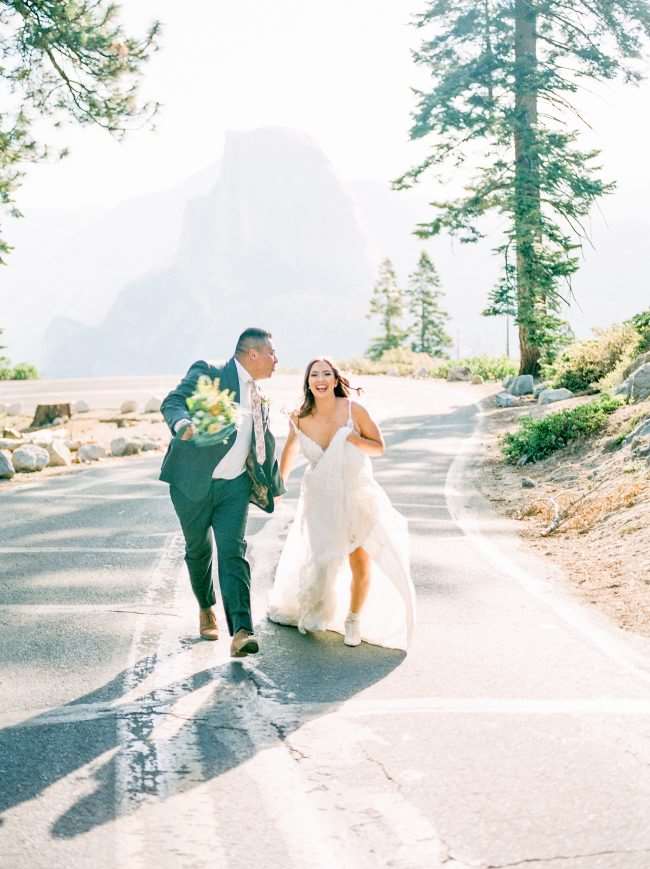
[[[69, 128], [63, 163], [32, 167], [24, 206], [112, 204], [173, 185], [220, 155], [224, 132], [272, 124], [310, 134], [343, 179], [390, 179], [417, 158], [408, 142], [410, 87], [421, 72], [408, 25], [423, 0], [127, 0], [123, 18], [143, 32], [162, 21], [146, 92], [163, 103], [157, 133], [117, 144]], [[621, 190], [648, 189], [650, 87], [609, 85], [582, 107]], [[50, 137], [51, 139], [52, 137]], [[609, 202], [607, 209], [614, 207]]]

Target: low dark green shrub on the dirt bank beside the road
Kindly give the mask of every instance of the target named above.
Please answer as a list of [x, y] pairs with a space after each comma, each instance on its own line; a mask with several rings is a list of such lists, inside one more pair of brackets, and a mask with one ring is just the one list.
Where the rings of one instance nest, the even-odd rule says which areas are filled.
[[599, 432], [621, 402], [609, 395], [601, 395], [589, 404], [569, 410], [560, 410], [541, 419], [525, 416], [519, 430], [503, 438], [503, 457], [511, 465], [538, 462], [571, 441]]

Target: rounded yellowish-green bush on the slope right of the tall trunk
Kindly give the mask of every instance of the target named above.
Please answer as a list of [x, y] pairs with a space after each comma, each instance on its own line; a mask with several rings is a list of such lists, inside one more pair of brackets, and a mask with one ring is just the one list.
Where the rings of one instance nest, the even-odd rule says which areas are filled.
[[603, 381], [638, 352], [639, 333], [630, 323], [595, 329], [594, 337], [571, 344], [543, 372], [555, 387], [583, 392]]

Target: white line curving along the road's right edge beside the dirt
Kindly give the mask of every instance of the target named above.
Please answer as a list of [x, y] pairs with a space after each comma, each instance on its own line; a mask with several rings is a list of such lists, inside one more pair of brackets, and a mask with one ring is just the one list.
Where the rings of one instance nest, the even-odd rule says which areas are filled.
[[[480, 413], [480, 404], [476, 407], [477, 412]], [[616, 662], [624, 671], [650, 683], [650, 663], [647, 656], [638, 654], [628, 641], [616, 636], [613, 627], [600, 627], [593, 614], [589, 613], [584, 605], [569, 600], [550, 582], [524, 570], [510, 557], [505, 548], [496, 544], [483, 532], [480, 517], [477, 518], [476, 513], [471, 512], [466, 504], [469, 498], [479, 496], [472, 487], [467, 465], [472, 450], [476, 450], [480, 436], [479, 424], [472, 437], [462, 442], [447, 472], [445, 497], [453, 520], [500, 576], [508, 576], [515, 580], [529, 594], [549, 607], [576, 634]], [[532, 556], [529, 557], [532, 560]]]

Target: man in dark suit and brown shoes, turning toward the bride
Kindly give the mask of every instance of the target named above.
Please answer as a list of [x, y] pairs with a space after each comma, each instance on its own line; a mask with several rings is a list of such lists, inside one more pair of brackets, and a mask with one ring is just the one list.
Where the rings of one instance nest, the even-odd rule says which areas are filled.
[[[278, 363], [271, 333], [246, 329], [235, 354], [225, 365], [195, 362], [162, 403], [173, 437], [160, 479], [169, 493], [185, 537], [185, 562], [199, 604], [199, 633], [218, 638], [212, 583], [212, 533], [228, 630], [230, 654], [240, 658], [259, 650], [253, 634], [250, 567], [246, 561], [248, 504], [273, 512], [274, 498], [286, 490], [275, 458], [275, 440], [268, 427], [268, 407], [256, 381], [271, 377]], [[186, 399], [199, 377], [219, 378], [221, 389], [235, 394], [241, 414], [237, 435], [227, 443], [197, 446]], [[248, 412], [245, 412], [248, 411]]]

